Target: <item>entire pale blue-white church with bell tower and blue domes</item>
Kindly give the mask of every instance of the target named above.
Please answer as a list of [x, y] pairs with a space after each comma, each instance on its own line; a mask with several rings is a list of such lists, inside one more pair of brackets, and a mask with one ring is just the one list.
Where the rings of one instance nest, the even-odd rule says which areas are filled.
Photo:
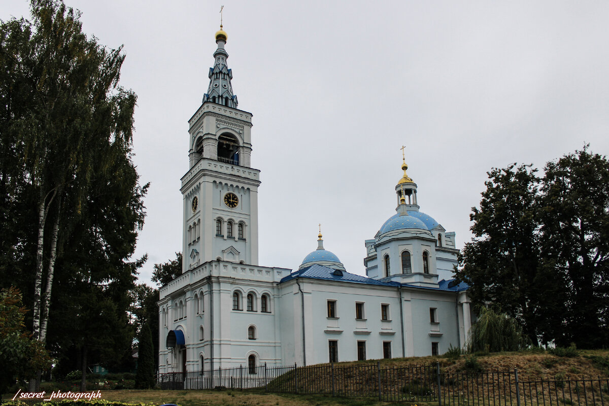
[[455, 233], [419, 211], [406, 163], [396, 213], [365, 240], [367, 276], [349, 273], [325, 250], [321, 233], [298, 270], [258, 265], [261, 181], [250, 166], [252, 114], [237, 108], [226, 42], [220, 26], [209, 88], [189, 120], [183, 273], [160, 289], [159, 373], [463, 347], [472, 313], [467, 285], [452, 279]]

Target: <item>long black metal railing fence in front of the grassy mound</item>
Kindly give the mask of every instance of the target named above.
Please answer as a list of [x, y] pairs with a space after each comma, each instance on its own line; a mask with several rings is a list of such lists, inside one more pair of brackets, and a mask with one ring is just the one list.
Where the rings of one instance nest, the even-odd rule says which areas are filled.
[[519, 380], [518, 370], [442, 373], [437, 365], [256, 366], [160, 374], [161, 389], [251, 389], [376, 397], [438, 406], [609, 406], [609, 379]]

